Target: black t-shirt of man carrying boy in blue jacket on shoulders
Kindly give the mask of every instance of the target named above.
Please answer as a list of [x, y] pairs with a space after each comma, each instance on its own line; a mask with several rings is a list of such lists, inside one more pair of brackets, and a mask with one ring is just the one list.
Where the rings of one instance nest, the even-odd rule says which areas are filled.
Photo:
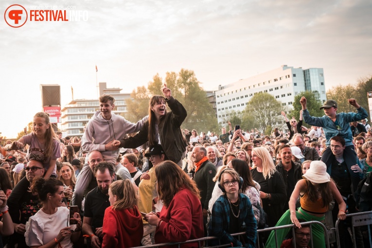
[[347, 197], [352, 194], [351, 176], [345, 161], [339, 163], [336, 159], [333, 159], [330, 176], [335, 181], [341, 195]]

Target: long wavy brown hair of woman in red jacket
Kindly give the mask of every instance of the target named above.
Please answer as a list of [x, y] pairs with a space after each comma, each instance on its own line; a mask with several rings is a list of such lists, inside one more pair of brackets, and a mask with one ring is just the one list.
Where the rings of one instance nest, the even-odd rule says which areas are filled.
[[181, 188], [189, 189], [200, 199], [200, 192], [194, 180], [191, 180], [182, 169], [170, 160], [155, 167], [158, 180], [158, 195], [165, 207], [169, 207], [173, 197]]

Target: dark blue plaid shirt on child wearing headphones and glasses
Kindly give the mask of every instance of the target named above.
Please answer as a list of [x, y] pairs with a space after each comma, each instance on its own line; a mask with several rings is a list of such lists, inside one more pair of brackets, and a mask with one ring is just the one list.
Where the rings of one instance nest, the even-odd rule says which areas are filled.
[[257, 224], [254, 217], [252, 204], [247, 195], [239, 194], [239, 226], [245, 225], [246, 235], [243, 235], [246, 243], [242, 243], [229, 234], [230, 205], [226, 195], [221, 195], [213, 204], [212, 217], [208, 233], [217, 236], [221, 241], [232, 243], [234, 247], [255, 248], [257, 238]]

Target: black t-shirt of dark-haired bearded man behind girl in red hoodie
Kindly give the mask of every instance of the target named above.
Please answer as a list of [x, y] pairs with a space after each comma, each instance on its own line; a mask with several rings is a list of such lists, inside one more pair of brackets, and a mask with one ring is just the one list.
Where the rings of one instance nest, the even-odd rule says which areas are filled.
[[92, 189], [84, 203], [84, 216], [92, 218], [92, 230], [103, 226], [103, 217], [105, 210], [110, 206], [108, 195], [101, 192], [98, 186]]

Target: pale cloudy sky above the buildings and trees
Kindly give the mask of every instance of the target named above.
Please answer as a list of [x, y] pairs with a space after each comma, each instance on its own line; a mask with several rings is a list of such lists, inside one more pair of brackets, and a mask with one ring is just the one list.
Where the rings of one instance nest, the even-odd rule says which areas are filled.
[[[96, 76], [122, 92], [181, 68], [206, 90], [281, 65], [323, 68], [327, 90], [372, 76], [370, 0], [18, 0], [28, 12], [19, 28], [3, 19], [14, 3], [0, 2], [1, 102], [13, 117], [0, 132], [8, 138], [41, 111], [40, 84], [59, 84], [64, 106], [71, 86], [74, 99], [97, 98]], [[84, 18], [30, 21], [45, 5]]]

